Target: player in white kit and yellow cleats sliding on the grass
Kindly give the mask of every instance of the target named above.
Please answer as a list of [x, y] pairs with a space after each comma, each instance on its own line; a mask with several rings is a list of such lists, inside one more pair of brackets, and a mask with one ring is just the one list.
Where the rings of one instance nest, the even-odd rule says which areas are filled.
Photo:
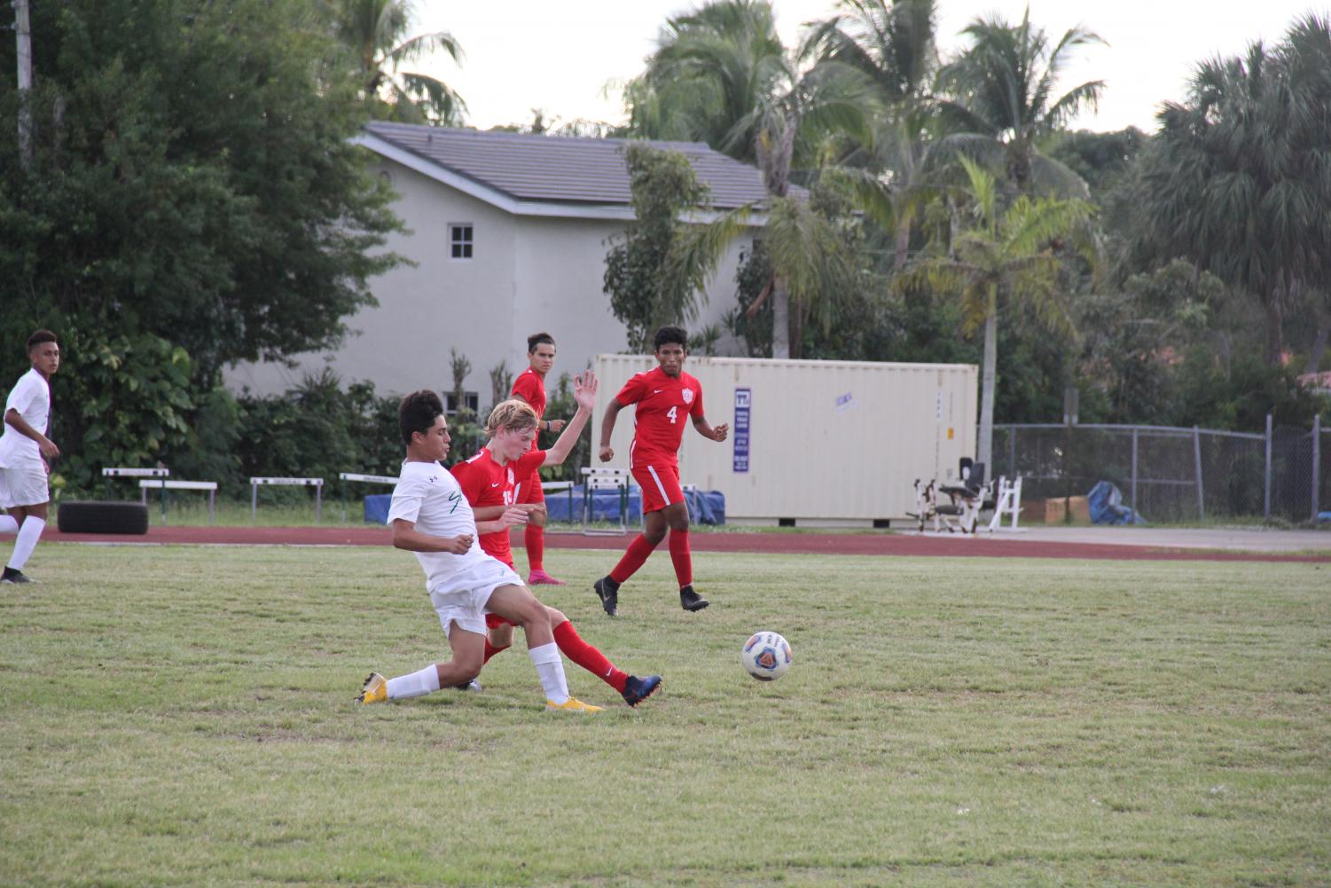
[[458, 482], [439, 463], [449, 454], [449, 426], [443, 402], [434, 391], [409, 394], [398, 409], [398, 427], [407, 458], [393, 491], [389, 523], [393, 545], [415, 553], [426, 575], [430, 603], [449, 636], [453, 659], [410, 675], [385, 679], [371, 672], [357, 698], [379, 703], [422, 696], [441, 687], [466, 684], [484, 663], [486, 614], [498, 614], [527, 636], [546, 707], [570, 712], [599, 712], [568, 695], [564, 664], [550, 627], [550, 611], [536, 600], [506, 564], [480, 551], [475, 534], [492, 533], [526, 519], [520, 509], [504, 511], [479, 526]]

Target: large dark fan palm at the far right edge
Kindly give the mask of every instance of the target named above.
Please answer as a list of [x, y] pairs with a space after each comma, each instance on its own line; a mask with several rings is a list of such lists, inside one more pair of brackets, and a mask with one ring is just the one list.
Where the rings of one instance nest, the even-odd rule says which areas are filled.
[[1288, 306], [1331, 274], [1328, 95], [1331, 25], [1310, 15], [1274, 53], [1198, 65], [1142, 161], [1138, 257], [1186, 256], [1260, 300], [1268, 363]]

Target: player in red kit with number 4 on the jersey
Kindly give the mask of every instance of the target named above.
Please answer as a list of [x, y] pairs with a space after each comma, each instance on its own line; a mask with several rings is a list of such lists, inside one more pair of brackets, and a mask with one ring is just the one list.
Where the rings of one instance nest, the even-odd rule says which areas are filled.
[[594, 588], [607, 614], [619, 610], [619, 587], [647, 560], [669, 530], [669, 556], [679, 580], [679, 603], [685, 611], [700, 611], [708, 600], [693, 591], [693, 559], [688, 547], [688, 506], [679, 483], [679, 446], [688, 422], [709, 441], [725, 441], [728, 426], [712, 426], [703, 414], [703, 386], [684, 373], [688, 334], [675, 326], [662, 328], [654, 339], [658, 366], [634, 375], [606, 409], [600, 426], [600, 461], [610, 462], [615, 451], [610, 438], [615, 418], [634, 405], [634, 443], [628, 450], [628, 470], [643, 489], [643, 533], [628, 543], [624, 556]]

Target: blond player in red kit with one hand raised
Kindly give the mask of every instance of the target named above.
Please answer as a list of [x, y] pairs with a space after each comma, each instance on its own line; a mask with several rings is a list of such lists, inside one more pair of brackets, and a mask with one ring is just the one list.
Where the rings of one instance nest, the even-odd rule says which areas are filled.
[[[544, 501], [532, 502], [532, 497], [523, 490], [523, 486], [528, 483], [539, 486], [539, 469], [558, 466], [568, 457], [568, 451], [582, 435], [583, 426], [591, 418], [591, 409], [596, 403], [596, 377], [590, 370], [582, 377], [574, 377], [574, 401], [578, 403], [578, 411], [550, 450], [532, 450], [538, 422], [538, 413], [532, 405], [518, 399], [495, 405], [486, 421], [490, 441], [475, 457], [453, 467], [453, 474], [471, 503], [478, 522], [502, 518], [515, 506], [528, 513], [544, 510]], [[507, 527], [482, 533], [480, 549], [512, 567]], [[659, 675], [647, 678], [628, 675], [584, 642], [567, 616], [554, 607], [547, 606], [546, 611], [550, 614], [555, 643], [564, 656], [619, 691], [630, 706], [638, 706], [660, 687]], [[490, 627], [484, 650], [484, 660], [488, 662], [491, 656], [512, 644], [512, 623], [498, 614], [486, 614], [486, 626]]]

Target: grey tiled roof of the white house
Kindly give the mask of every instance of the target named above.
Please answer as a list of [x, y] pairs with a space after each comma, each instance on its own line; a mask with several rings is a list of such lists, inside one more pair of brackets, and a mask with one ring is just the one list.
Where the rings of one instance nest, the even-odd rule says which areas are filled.
[[[366, 130], [417, 157], [520, 201], [622, 204], [631, 200], [624, 138], [576, 138], [371, 122]], [[703, 142], [647, 142], [685, 154], [720, 210], [763, 202], [753, 166]], [[792, 189], [793, 190], [793, 189]]]

